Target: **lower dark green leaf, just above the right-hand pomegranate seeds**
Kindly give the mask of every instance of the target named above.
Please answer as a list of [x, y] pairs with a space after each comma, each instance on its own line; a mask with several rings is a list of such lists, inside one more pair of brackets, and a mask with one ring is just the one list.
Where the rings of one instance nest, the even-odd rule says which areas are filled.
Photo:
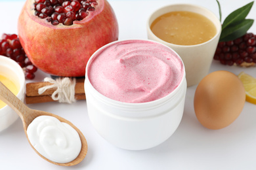
[[251, 25], [253, 25], [253, 20], [251, 19], [242, 20], [236, 24], [229, 25], [229, 27], [226, 27], [221, 31], [219, 42], [231, 41], [245, 35]]

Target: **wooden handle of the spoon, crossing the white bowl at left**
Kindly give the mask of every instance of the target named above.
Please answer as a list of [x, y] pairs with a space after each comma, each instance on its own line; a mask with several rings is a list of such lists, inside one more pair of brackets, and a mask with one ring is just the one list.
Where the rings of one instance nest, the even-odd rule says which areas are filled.
[[16, 95], [14, 95], [9, 88], [7, 88], [1, 81], [0, 81], [0, 99], [5, 102], [9, 107], [11, 107], [22, 119], [22, 122], [25, 122], [26, 124], [30, 122], [26, 122], [26, 119], [24, 120], [24, 116], [30, 112], [30, 109], [24, 105]]

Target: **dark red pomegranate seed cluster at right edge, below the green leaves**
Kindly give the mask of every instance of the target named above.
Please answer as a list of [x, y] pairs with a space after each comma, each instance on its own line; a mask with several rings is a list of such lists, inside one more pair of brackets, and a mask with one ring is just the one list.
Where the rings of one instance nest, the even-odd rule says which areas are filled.
[[244, 67], [256, 64], [256, 35], [246, 33], [234, 41], [219, 42], [214, 59], [224, 65]]

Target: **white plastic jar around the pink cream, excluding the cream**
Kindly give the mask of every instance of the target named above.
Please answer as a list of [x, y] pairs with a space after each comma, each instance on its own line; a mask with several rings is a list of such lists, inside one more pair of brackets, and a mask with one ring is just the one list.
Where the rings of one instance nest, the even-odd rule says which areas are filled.
[[[93, 87], [87, 73], [98, 51], [117, 42], [97, 50], [87, 63], [85, 94], [89, 118], [96, 131], [106, 141], [119, 148], [127, 150], [152, 148], [167, 140], [181, 122], [186, 95], [185, 71], [177, 88], [160, 99], [144, 103], [125, 103], [110, 99]], [[183, 64], [182, 67], [184, 69]]]

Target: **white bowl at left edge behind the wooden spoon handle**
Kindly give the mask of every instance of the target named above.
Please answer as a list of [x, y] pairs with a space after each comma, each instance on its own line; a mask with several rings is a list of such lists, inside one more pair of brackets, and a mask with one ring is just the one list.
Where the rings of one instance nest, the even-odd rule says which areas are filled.
[[[25, 76], [22, 68], [18, 63], [5, 56], [0, 56], [0, 75], [7, 76], [20, 89], [16, 95], [20, 100], [24, 101], [25, 93]], [[0, 131], [7, 129], [18, 118], [18, 114], [14, 112], [8, 105], [0, 109]]]

